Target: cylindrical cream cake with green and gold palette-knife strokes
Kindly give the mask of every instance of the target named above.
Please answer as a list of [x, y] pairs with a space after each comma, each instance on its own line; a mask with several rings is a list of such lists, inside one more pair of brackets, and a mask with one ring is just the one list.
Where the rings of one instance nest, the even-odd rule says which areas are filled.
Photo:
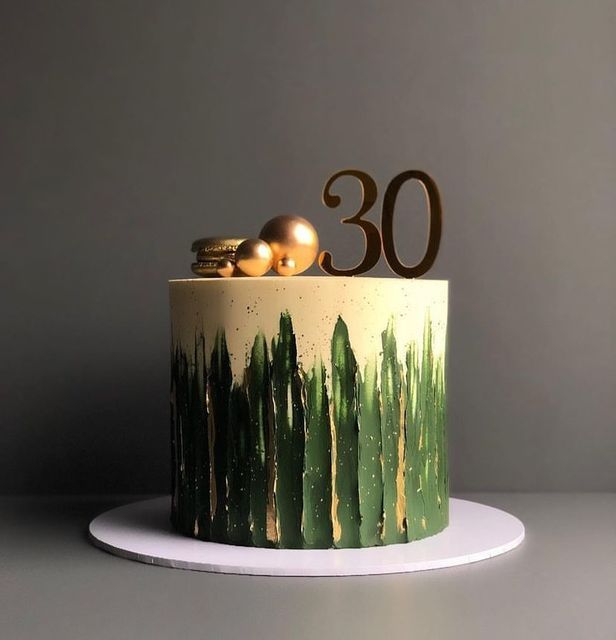
[[170, 297], [178, 531], [325, 549], [447, 526], [446, 281], [189, 279]]

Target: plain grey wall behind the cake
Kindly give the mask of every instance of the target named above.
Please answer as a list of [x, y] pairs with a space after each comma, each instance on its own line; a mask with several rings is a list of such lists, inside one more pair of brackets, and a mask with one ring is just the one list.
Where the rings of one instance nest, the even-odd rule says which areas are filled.
[[350, 264], [320, 204], [349, 166], [442, 190], [453, 489], [616, 489], [614, 2], [26, 1], [0, 24], [0, 492], [164, 491], [166, 280], [193, 238], [288, 211]]

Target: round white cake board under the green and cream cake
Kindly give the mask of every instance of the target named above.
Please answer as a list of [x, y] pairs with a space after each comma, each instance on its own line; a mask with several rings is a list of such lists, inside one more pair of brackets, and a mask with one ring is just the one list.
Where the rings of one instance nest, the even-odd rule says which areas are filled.
[[499, 509], [449, 502], [450, 524], [435, 536], [367, 549], [256, 549], [203, 542], [169, 524], [170, 499], [118, 507], [90, 523], [90, 538], [117, 556], [176, 569], [266, 576], [356, 576], [425, 571], [477, 562], [517, 547], [524, 525]]

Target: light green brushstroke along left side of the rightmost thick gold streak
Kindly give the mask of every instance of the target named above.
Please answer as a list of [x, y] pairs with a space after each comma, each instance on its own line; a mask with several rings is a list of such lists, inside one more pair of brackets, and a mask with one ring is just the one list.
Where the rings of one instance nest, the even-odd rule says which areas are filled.
[[393, 319], [381, 334], [383, 360], [381, 362], [381, 429], [383, 446], [383, 544], [406, 541], [406, 532], [398, 525], [398, 467], [399, 455], [401, 380], [398, 364], [398, 348]]

